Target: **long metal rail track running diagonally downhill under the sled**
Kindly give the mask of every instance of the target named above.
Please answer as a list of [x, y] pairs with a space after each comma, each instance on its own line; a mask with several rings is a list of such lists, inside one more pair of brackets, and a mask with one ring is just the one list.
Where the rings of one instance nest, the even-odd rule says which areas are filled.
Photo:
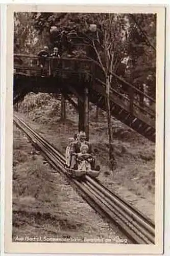
[[26, 133], [34, 147], [41, 151], [43, 157], [56, 170], [55, 172], [64, 174], [78, 189], [82, 198], [102, 217], [118, 226], [132, 243], [155, 243], [155, 225], [147, 216], [111, 192], [96, 178], [87, 175], [82, 180], [70, 178], [64, 168], [65, 158], [55, 146], [17, 116], [14, 116], [14, 123]]

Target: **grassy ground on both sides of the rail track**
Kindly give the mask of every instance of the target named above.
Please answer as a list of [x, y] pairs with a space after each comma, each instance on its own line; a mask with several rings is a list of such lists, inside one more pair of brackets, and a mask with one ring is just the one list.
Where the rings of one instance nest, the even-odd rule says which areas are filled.
[[[47, 97], [44, 94], [26, 96], [19, 106], [20, 116], [64, 153], [68, 137], [78, 129], [77, 113], [67, 104], [67, 120], [61, 123], [60, 101]], [[103, 112], [98, 122], [94, 117], [95, 109], [91, 106], [90, 141], [98, 150], [102, 168], [99, 179], [154, 220], [155, 145], [113, 119], [117, 164], [114, 172], [107, 176], [106, 117]], [[115, 236], [115, 230], [94, 214], [67, 181], [60, 175], [54, 178], [47, 172], [49, 166], [43, 164], [41, 156], [31, 151], [26, 138], [23, 142], [21, 132], [14, 129], [13, 237], [26, 232], [30, 236], [38, 236], [38, 232], [41, 236]]]

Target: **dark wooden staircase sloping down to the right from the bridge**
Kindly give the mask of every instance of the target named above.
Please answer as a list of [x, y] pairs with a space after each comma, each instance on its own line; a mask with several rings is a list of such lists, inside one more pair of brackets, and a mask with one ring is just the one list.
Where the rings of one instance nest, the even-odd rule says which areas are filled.
[[[90, 89], [90, 102], [99, 106], [99, 108], [106, 110], [105, 104], [105, 87], [102, 81], [96, 79]], [[129, 109], [129, 104], [125, 103], [128, 99], [120, 95], [115, 90], [110, 92], [110, 109], [111, 115], [121, 122], [125, 123], [133, 130], [155, 142], [155, 114], [154, 111], [145, 110], [142, 113], [138, 105], [134, 105], [133, 112]]]

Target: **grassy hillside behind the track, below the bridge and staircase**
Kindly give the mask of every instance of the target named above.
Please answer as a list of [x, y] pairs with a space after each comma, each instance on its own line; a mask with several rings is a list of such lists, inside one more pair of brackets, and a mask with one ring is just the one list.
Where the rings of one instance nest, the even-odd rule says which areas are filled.
[[[67, 139], [78, 130], [78, 114], [66, 101], [66, 121], [60, 122], [61, 95], [28, 94], [19, 104], [19, 112], [29, 120], [40, 124], [41, 132], [56, 144], [64, 153]], [[76, 100], [76, 99], [74, 99]], [[112, 119], [116, 166], [114, 173], [106, 177], [108, 169], [108, 137], [105, 112], [99, 110], [96, 120], [96, 107], [90, 104], [89, 139], [93, 144], [98, 160], [103, 168], [101, 177], [126, 186], [137, 196], [148, 198], [148, 191], [154, 200], [155, 189], [155, 144], [145, 139], [128, 126]], [[43, 126], [41, 125], [43, 124]], [[55, 133], [54, 133], [55, 132]], [[54, 137], [55, 134], [55, 137]]]

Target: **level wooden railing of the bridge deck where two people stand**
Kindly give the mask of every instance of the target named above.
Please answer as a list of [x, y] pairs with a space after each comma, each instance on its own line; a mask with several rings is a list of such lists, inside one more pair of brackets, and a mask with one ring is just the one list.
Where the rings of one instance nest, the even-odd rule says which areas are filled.
[[64, 74], [77, 74], [91, 77], [91, 60], [47, 57], [42, 58], [35, 55], [14, 54], [14, 72], [25, 73], [30, 76], [41, 74], [40, 64], [43, 62], [45, 76], [56, 76]]

